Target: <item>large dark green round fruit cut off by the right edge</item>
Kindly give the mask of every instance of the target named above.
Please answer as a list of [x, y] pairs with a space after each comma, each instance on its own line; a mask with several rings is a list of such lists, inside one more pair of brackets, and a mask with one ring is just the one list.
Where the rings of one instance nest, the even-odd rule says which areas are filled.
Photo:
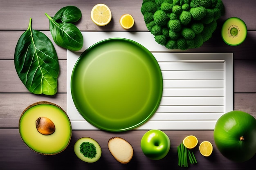
[[256, 119], [248, 113], [225, 113], [216, 122], [213, 135], [218, 150], [228, 159], [244, 162], [256, 154]]

